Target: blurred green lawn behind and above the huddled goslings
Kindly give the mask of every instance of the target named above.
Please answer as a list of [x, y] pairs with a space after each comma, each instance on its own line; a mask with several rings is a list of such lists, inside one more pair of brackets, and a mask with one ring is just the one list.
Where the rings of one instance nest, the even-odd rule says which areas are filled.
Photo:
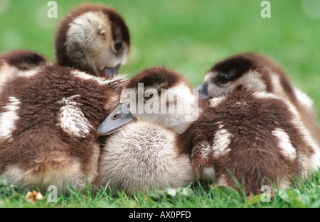
[[271, 18], [260, 16], [260, 0], [56, 2], [58, 18], [48, 18], [48, 1], [0, 0], [0, 53], [25, 48], [53, 61], [61, 18], [81, 4], [103, 3], [116, 9], [130, 30], [132, 48], [122, 73], [166, 65], [196, 86], [215, 62], [259, 52], [278, 62], [320, 111], [320, 0], [270, 0]]

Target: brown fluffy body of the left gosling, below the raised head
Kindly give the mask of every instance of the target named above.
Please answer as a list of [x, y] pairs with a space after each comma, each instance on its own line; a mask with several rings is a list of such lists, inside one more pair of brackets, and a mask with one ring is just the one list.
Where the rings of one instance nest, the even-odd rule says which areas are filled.
[[97, 127], [122, 83], [53, 65], [16, 73], [0, 92], [0, 177], [41, 192], [94, 182]]

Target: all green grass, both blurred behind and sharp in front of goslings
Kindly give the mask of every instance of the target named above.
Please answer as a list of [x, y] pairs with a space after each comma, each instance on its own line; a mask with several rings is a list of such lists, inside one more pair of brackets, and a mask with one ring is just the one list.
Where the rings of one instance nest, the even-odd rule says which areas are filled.
[[[58, 18], [48, 18], [48, 1], [0, 0], [0, 53], [26, 48], [53, 61], [58, 22], [71, 8], [88, 1], [57, 2]], [[261, 1], [257, 0], [95, 2], [119, 11], [129, 27], [132, 48], [122, 73], [133, 75], [146, 67], [166, 65], [196, 86], [215, 62], [239, 52], [259, 52], [277, 61], [320, 111], [320, 18], [309, 16], [304, 9], [307, 0], [270, 0], [271, 18], [260, 17]], [[194, 196], [158, 201], [151, 194], [132, 197], [100, 189], [97, 194], [59, 195], [57, 203], [44, 199], [31, 204], [23, 192], [9, 192], [0, 194], [0, 207], [319, 207], [319, 186], [318, 173], [288, 192], [276, 192], [270, 203], [193, 185]]]

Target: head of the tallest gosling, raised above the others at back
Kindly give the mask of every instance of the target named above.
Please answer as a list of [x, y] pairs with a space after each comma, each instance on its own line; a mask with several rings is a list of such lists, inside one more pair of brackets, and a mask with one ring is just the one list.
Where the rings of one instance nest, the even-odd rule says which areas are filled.
[[113, 9], [85, 5], [70, 11], [55, 36], [57, 65], [111, 78], [127, 61], [129, 30]]

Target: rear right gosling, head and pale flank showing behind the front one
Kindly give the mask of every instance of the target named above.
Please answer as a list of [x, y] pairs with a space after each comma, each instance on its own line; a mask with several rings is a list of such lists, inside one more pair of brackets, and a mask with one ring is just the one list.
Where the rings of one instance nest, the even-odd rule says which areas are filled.
[[287, 75], [270, 58], [256, 53], [228, 57], [213, 65], [198, 89], [212, 98], [243, 87], [251, 91], [274, 93], [292, 103], [320, 150], [320, 128], [313, 101], [294, 87]]

